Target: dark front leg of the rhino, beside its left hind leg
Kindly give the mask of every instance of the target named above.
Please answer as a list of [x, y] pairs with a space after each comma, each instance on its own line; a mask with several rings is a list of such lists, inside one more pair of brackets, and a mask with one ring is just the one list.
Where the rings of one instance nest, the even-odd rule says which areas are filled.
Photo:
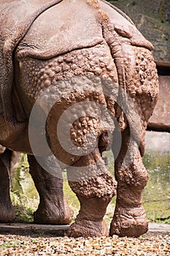
[[40, 224], [69, 224], [72, 221], [73, 211], [69, 208], [66, 198], [63, 196], [62, 170], [56, 165], [54, 157], [42, 159], [42, 161], [47, 166], [53, 166], [55, 176], [44, 170], [36, 162], [34, 156], [28, 156], [29, 171], [39, 193], [39, 206], [34, 212], [34, 222]]

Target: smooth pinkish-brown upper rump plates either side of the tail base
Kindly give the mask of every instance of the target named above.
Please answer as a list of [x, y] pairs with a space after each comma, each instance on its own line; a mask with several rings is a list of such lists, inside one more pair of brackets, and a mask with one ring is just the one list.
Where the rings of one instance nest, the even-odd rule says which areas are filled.
[[[63, 53], [89, 48], [104, 41], [102, 10], [115, 26], [117, 34], [131, 38], [134, 45], [152, 48], [126, 15], [106, 1], [64, 0], [36, 18], [23, 38], [18, 53], [35, 59], [52, 59]], [[23, 44], [23, 45], [22, 45]]]

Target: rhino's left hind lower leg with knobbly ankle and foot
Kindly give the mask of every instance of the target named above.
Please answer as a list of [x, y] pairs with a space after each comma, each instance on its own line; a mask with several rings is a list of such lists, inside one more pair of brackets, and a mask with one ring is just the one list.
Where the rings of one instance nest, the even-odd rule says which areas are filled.
[[68, 236], [108, 236], [103, 218], [116, 193], [116, 181], [107, 171], [98, 148], [67, 168], [69, 185], [80, 201], [80, 212]]

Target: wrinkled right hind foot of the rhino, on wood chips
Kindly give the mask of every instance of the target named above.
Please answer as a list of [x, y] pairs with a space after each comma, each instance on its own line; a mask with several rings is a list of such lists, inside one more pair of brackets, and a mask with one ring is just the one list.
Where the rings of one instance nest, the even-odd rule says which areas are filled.
[[139, 237], [148, 230], [148, 220], [142, 206], [116, 208], [109, 235]]

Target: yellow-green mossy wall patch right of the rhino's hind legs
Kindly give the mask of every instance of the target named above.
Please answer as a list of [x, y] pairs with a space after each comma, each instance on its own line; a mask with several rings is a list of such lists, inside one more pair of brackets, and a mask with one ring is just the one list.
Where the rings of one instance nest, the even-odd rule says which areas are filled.
[[170, 154], [146, 151], [144, 165], [150, 179], [143, 192], [143, 205], [148, 219], [170, 223]]

